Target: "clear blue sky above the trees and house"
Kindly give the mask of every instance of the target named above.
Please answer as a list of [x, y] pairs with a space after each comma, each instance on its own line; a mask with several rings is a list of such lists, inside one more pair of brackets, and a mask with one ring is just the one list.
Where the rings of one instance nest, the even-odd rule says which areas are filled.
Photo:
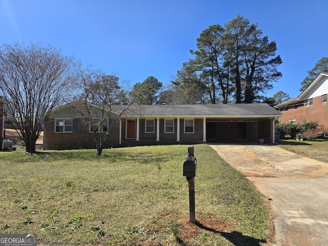
[[296, 97], [307, 71], [328, 57], [327, 9], [326, 0], [0, 0], [0, 44], [52, 45], [132, 86], [148, 76], [169, 85], [201, 31], [240, 14], [277, 43], [283, 62], [265, 95]]

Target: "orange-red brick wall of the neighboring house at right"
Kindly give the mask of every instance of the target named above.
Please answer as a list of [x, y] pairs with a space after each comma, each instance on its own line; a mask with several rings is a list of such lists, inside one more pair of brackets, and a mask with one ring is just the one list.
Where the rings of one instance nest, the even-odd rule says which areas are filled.
[[322, 125], [324, 129], [328, 129], [328, 103], [322, 103], [322, 97], [317, 96], [313, 98], [313, 106], [304, 107], [303, 104], [294, 109], [294, 105], [288, 107], [285, 111], [284, 107], [279, 108], [283, 116], [280, 117], [280, 122], [289, 123], [290, 120], [296, 120], [296, 123], [302, 124], [302, 120], [319, 121], [319, 126]]

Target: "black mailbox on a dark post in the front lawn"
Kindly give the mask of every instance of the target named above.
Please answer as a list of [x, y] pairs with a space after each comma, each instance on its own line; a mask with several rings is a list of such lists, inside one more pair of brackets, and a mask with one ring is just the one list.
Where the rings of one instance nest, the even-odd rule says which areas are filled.
[[194, 147], [188, 147], [188, 157], [183, 162], [183, 176], [187, 177], [189, 185], [189, 219], [190, 222], [196, 223], [195, 217], [195, 177], [197, 170], [197, 160], [194, 157]]

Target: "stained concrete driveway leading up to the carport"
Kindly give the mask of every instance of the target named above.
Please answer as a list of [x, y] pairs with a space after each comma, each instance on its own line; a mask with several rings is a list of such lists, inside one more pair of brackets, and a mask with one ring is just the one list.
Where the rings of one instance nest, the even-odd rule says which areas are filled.
[[270, 201], [275, 245], [328, 245], [328, 163], [273, 145], [210, 145]]

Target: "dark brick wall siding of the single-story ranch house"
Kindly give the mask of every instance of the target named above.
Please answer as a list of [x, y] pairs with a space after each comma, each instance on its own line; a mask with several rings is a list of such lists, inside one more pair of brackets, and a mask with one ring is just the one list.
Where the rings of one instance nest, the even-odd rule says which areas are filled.
[[[273, 120], [259, 120], [247, 122], [247, 136], [245, 141], [257, 142], [258, 138], [264, 138], [268, 143], [272, 142]], [[49, 120], [44, 128], [44, 150], [70, 150], [70, 149], [95, 149], [93, 133], [87, 131], [83, 119], [75, 119], [76, 130], [72, 133], [56, 133], [51, 130]], [[180, 118], [180, 128], [184, 119]], [[196, 125], [197, 124], [197, 125]], [[161, 129], [161, 126], [160, 126]], [[164, 133], [160, 130], [159, 141], [156, 141], [157, 133], [142, 132], [140, 126], [139, 140], [126, 139], [126, 120], [121, 120], [121, 145], [119, 145], [119, 121], [116, 121], [107, 137], [104, 149], [117, 147], [133, 147], [147, 145], [170, 144], [200, 144], [203, 142], [203, 119], [195, 119], [194, 133], [181, 133], [180, 141], [177, 141], [176, 130], [174, 133]], [[180, 129], [183, 132], [183, 128]], [[238, 141], [237, 122], [216, 122], [216, 139], [225, 142]]]

